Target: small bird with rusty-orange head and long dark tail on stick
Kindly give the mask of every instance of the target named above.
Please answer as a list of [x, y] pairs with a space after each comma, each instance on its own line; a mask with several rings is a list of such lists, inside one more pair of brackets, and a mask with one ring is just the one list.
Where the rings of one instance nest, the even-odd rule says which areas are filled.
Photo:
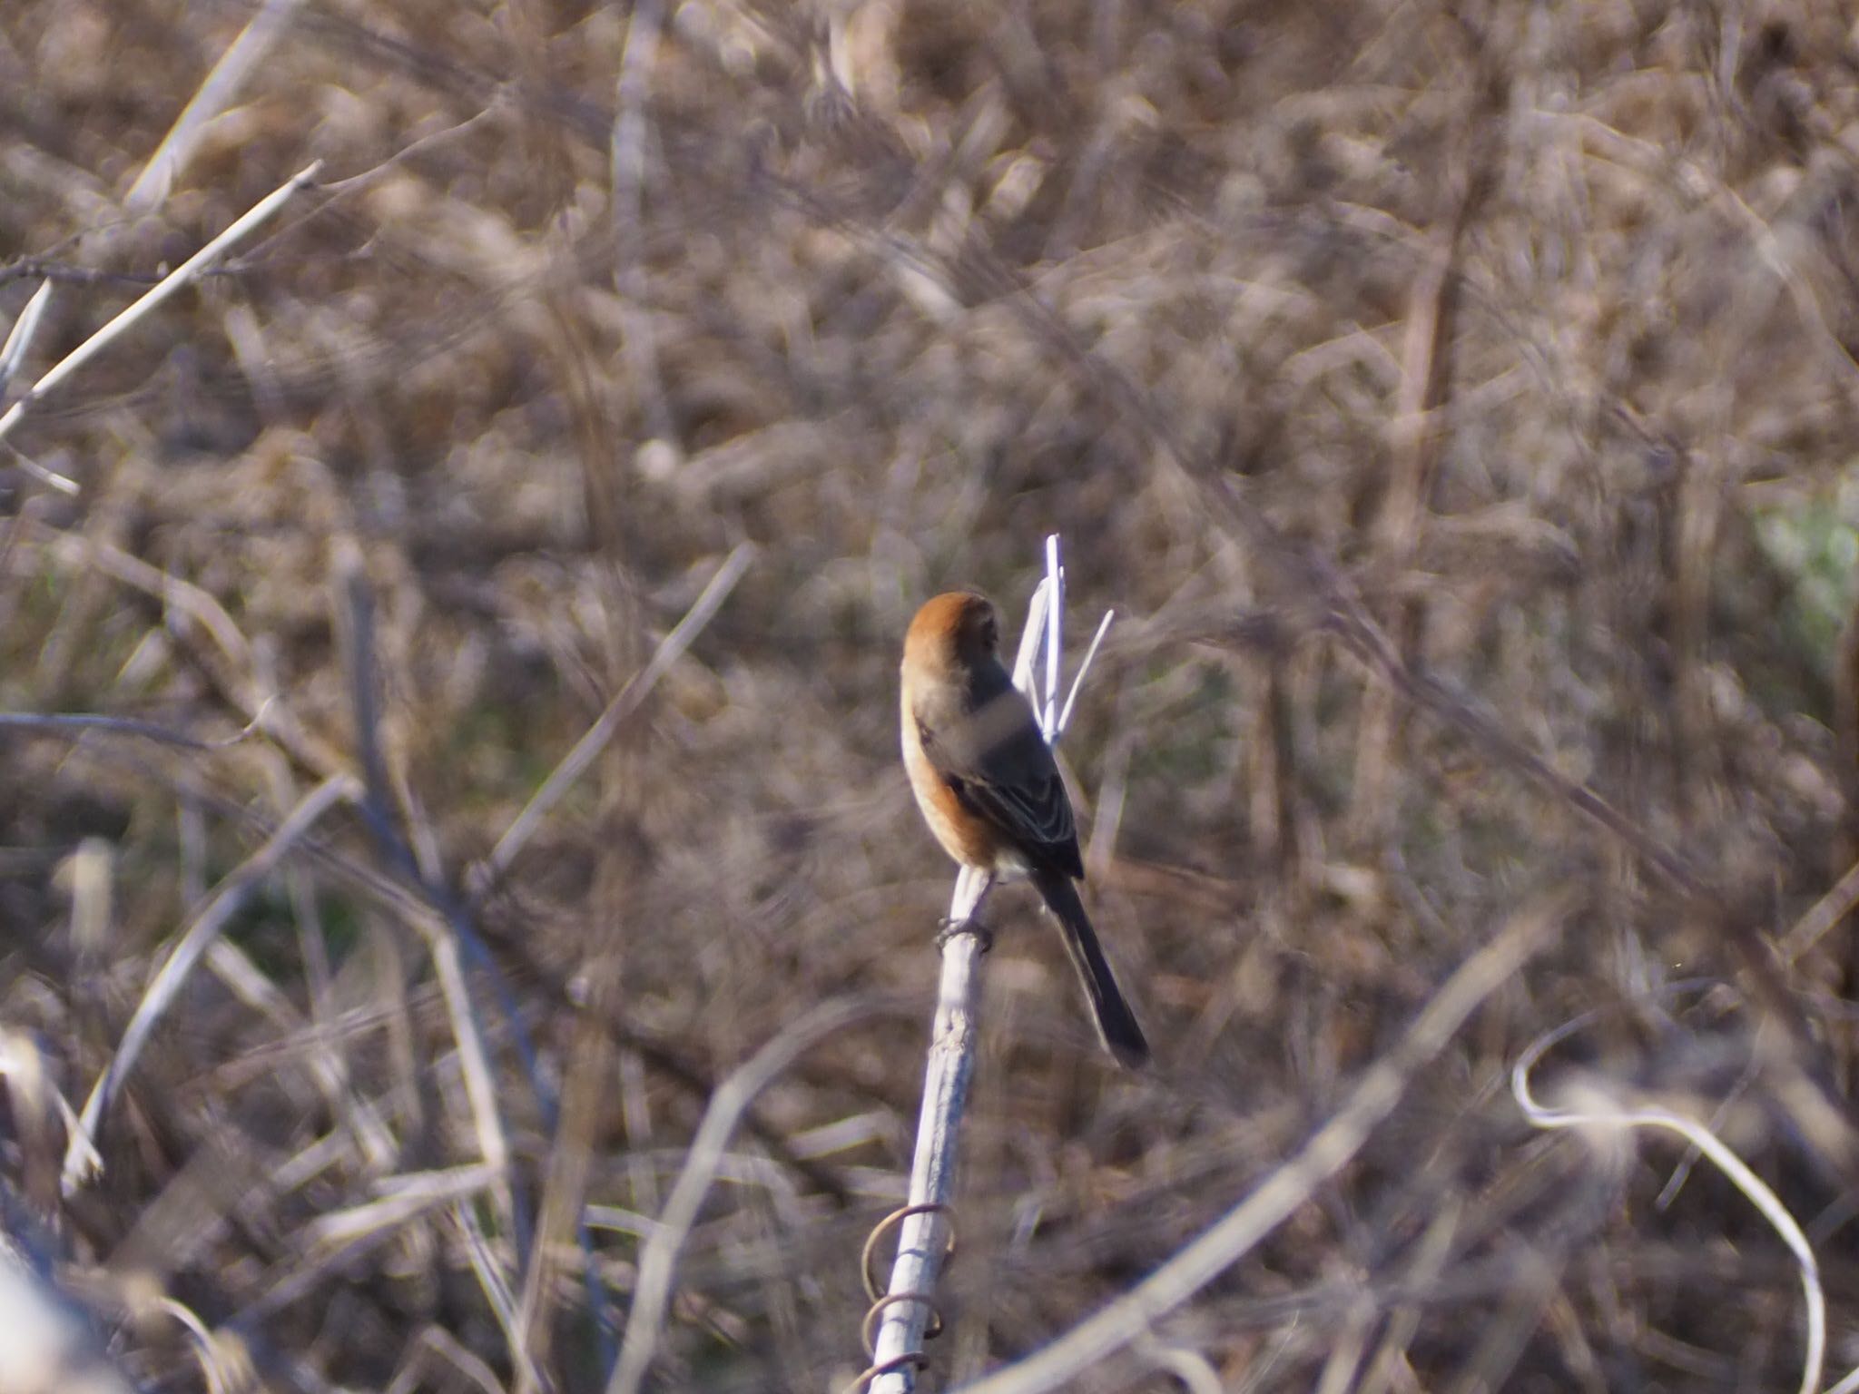
[[926, 600], [903, 636], [903, 768], [924, 822], [963, 866], [1026, 875], [1058, 920], [1097, 1033], [1128, 1069], [1149, 1041], [1078, 900], [1078, 829], [1052, 749], [1000, 664], [1000, 619], [974, 591]]

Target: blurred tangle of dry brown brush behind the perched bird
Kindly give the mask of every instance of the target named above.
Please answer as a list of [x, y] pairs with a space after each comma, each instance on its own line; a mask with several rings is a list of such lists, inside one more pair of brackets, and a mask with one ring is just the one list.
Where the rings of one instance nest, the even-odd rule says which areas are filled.
[[[896, 645], [946, 585], [1017, 608], [1054, 530], [1075, 628], [1123, 615], [1065, 749], [1158, 1061], [1002, 900], [930, 1379], [1201, 1232], [1545, 898], [1363, 1154], [1076, 1387], [1792, 1388], [1749, 1206], [1511, 1102], [1588, 1007], [1556, 1071], [1734, 1141], [1859, 1361], [1859, 961], [1790, 933], [1850, 861], [1842, 6], [283, 9], [138, 206], [253, 9], [0, 7], [0, 316], [56, 284], [22, 383], [323, 160], [0, 457], [0, 708], [260, 717], [0, 730], [4, 1210], [123, 1370], [599, 1388], [716, 1082], [850, 996], [734, 1136], [654, 1377], [855, 1374], [950, 885]], [[61, 1199], [32, 1069], [76, 1106], [214, 903]]]

